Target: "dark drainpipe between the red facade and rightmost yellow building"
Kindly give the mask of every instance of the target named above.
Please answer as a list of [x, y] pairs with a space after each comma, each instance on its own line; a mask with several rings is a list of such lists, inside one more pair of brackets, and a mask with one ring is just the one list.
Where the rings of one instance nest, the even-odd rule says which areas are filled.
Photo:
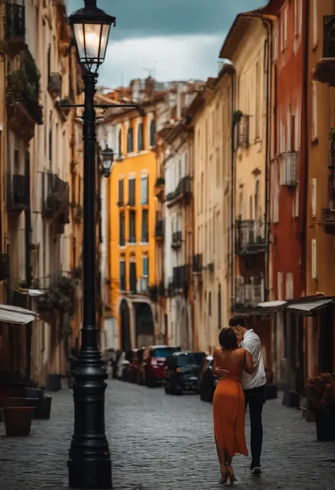
[[305, 110], [305, 117], [301, 115], [301, 121], [303, 124], [302, 135], [305, 138], [304, 141], [304, 150], [305, 150], [305, 161], [304, 161], [304, 192], [303, 192], [303, 206], [302, 206], [302, 231], [301, 231], [301, 250], [302, 250], [302, 284], [305, 290], [305, 295], [307, 294], [307, 272], [306, 272], [306, 235], [307, 235], [307, 205], [308, 205], [308, 151], [309, 151], [309, 139], [308, 139], [308, 84], [309, 84], [309, 76], [310, 70], [308, 69], [309, 62], [309, 35], [310, 35], [310, 0], [305, 0], [305, 76], [304, 76], [304, 86], [303, 86], [303, 95], [302, 95], [302, 107]]

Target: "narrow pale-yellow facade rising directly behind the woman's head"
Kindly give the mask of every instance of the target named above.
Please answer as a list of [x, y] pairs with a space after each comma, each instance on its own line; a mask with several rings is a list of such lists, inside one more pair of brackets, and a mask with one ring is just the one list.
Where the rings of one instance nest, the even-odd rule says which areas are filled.
[[232, 77], [224, 64], [188, 111], [194, 125], [194, 348], [209, 354], [230, 313]]

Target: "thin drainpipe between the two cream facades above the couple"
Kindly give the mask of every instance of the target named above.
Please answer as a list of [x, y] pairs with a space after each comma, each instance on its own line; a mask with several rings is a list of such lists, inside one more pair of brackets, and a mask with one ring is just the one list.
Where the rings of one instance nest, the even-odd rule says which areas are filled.
[[231, 152], [231, 165], [230, 165], [230, 187], [231, 187], [231, 198], [230, 198], [230, 311], [233, 311], [234, 307], [234, 231], [235, 231], [235, 123], [233, 119], [233, 114], [235, 110], [235, 85], [236, 85], [236, 70], [233, 69], [233, 73], [230, 74], [232, 82], [231, 90], [231, 141], [230, 141], [230, 152]]

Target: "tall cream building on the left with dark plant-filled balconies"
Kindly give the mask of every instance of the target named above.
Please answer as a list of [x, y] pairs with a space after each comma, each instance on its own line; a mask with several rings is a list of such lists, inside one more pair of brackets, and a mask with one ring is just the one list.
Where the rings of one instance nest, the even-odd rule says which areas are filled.
[[60, 104], [79, 100], [81, 72], [64, 1], [6, 2], [1, 30], [1, 257], [8, 262], [1, 299], [40, 313], [17, 329], [1, 327], [1, 367], [45, 384], [48, 374], [66, 373], [66, 350], [78, 337], [78, 328], [71, 332], [81, 309], [73, 270], [81, 233], [75, 252], [72, 239], [81, 189], [70, 175], [75, 162], [81, 175], [74, 150], [81, 136], [79, 114]]

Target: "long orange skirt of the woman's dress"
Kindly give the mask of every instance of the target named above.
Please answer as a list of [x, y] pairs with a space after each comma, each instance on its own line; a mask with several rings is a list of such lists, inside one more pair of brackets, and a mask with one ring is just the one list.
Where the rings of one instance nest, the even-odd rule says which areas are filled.
[[240, 382], [223, 378], [218, 381], [213, 399], [214, 436], [229, 459], [247, 456], [245, 442], [245, 395]]

